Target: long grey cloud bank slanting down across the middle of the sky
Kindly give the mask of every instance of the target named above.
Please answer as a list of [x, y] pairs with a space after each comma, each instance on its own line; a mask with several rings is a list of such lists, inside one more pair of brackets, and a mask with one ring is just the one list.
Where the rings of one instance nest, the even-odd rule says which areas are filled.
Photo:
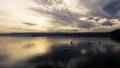
[[52, 24], [59, 24], [62, 26], [76, 26], [76, 24], [79, 28], [92, 28], [94, 26], [93, 23], [86, 23], [84, 21], [81, 21], [79, 18], [81, 17], [81, 14], [73, 12], [69, 10], [69, 8], [52, 8], [50, 10], [44, 10], [41, 8], [31, 8], [32, 10], [38, 12], [38, 13], [43, 13], [46, 15], [51, 15], [53, 18], [52, 21], [50, 21]]

